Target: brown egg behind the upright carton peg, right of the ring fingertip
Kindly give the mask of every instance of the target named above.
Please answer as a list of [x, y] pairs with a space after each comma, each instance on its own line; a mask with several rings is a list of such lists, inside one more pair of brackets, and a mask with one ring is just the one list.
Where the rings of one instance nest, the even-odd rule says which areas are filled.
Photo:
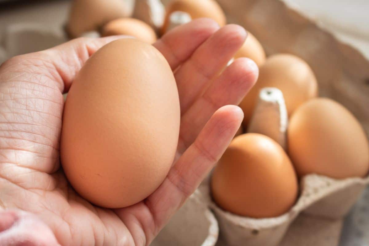
[[259, 92], [264, 87], [276, 87], [282, 91], [288, 115], [318, 94], [313, 70], [304, 60], [289, 54], [272, 55], [260, 67], [258, 81], [240, 104], [245, 115], [245, 126], [254, 112]]

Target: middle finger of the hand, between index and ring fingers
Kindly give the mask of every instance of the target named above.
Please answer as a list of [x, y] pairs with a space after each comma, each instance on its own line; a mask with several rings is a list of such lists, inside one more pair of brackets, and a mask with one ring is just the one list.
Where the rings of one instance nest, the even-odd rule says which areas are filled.
[[181, 113], [203, 87], [227, 64], [245, 42], [247, 33], [238, 25], [226, 25], [205, 41], [175, 73]]

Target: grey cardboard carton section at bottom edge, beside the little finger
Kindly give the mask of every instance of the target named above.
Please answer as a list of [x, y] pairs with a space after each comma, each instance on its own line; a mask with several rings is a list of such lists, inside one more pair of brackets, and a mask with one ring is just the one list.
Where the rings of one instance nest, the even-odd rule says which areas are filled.
[[219, 234], [218, 222], [196, 190], [170, 219], [151, 246], [214, 246]]

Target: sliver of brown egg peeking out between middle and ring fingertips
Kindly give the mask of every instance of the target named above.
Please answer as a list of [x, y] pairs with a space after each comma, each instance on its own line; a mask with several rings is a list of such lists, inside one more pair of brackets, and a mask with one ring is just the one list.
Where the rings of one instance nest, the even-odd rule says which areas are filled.
[[248, 32], [246, 41], [237, 51], [234, 58], [247, 57], [253, 60], [256, 65], [261, 66], [265, 62], [265, 51], [258, 39], [255, 38], [250, 32]]

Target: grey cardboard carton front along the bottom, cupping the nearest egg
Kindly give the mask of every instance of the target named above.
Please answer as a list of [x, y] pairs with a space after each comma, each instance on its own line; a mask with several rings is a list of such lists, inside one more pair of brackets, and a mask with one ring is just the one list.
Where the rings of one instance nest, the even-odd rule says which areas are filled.
[[300, 181], [300, 195], [290, 211], [255, 219], [218, 207], [211, 198], [209, 175], [151, 246], [338, 245], [342, 218], [367, 184], [369, 177], [337, 180], [307, 175]]

